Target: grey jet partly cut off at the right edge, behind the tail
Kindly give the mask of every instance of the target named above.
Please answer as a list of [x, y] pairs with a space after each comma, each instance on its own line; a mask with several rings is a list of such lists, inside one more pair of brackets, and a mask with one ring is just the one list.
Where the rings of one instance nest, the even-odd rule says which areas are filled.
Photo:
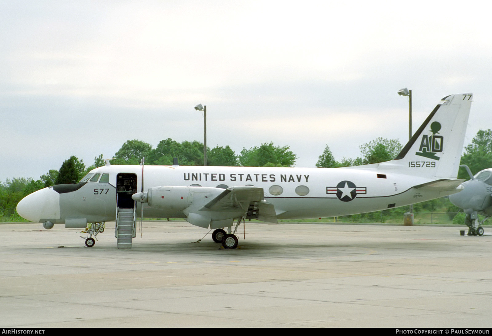
[[[456, 195], [450, 195], [451, 203], [463, 209], [466, 214], [464, 223], [468, 226], [468, 235], [483, 235], [484, 228], [481, 226], [492, 216], [492, 168], [479, 171], [475, 176], [471, 174], [466, 165], [470, 180], [461, 183], [463, 191]], [[485, 215], [480, 221], [478, 214]]]

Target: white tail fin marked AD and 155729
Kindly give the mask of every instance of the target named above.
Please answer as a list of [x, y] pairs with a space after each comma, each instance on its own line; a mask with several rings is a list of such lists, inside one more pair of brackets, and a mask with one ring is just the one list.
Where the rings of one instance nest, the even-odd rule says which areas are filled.
[[395, 160], [378, 168], [430, 178], [456, 178], [460, 168], [472, 93], [442, 98]]

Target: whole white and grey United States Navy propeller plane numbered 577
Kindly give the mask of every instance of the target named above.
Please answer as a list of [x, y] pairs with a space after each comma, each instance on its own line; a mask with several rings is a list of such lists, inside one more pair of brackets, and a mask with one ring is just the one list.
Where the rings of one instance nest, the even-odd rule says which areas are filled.
[[442, 98], [400, 154], [388, 162], [346, 168], [107, 164], [92, 169], [79, 183], [26, 196], [17, 212], [47, 229], [53, 224], [92, 223], [87, 231], [89, 247], [104, 222], [116, 221], [118, 247], [131, 247], [137, 217], [171, 217], [215, 229], [214, 241], [234, 249], [241, 220], [277, 223], [351, 215], [459, 192], [463, 180], [456, 177], [471, 102], [471, 93]]

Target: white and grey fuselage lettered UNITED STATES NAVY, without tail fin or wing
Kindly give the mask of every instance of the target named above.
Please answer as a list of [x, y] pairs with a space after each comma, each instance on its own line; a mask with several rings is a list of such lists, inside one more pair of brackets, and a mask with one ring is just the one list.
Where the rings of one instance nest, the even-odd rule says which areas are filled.
[[[42, 189], [29, 197], [45, 198], [48, 202], [31, 212], [39, 213], [39, 222], [55, 224], [84, 218], [87, 223], [114, 221], [117, 190], [121, 188], [117, 176], [134, 174], [136, 186], [132, 194], [142, 188], [141, 166], [104, 166], [93, 169], [91, 173], [109, 174], [108, 182], [89, 180], [62, 185], [64, 189], [61, 186]], [[144, 167], [145, 189], [155, 186], [225, 189], [245, 185], [263, 188], [265, 200], [274, 204], [278, 219], [334, 217], [384, 210], [452, 193], [441, 195], [442, 192], [436, 194], [412, 188], [429, 181], [418, 176], [406, 178], [391, 172], [391, 169], [384, 172], [375, 168]], [[36, 194], [39, 197], [35, 197]], [[163, 210], [143, 204], [144, 217], [186, 217], [180, 210]], [[137, 202], [138, 213], [139, 207]]]

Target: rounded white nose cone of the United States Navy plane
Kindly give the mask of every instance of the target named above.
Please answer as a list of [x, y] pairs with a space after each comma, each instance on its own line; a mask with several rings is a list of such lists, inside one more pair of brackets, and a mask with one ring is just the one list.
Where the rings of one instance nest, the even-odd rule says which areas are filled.
[[53, 188], [38, 190], [17, 204], [17, 213], [32, 222], [60, 219], [60, 194]]

